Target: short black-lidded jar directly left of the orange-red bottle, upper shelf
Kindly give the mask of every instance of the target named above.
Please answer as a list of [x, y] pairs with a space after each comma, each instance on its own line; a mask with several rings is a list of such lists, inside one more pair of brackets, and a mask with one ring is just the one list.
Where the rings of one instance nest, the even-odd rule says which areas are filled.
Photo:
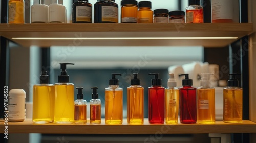
[[170, 23], [185, 23], [185, 12], [180, 10], [169, 12]]

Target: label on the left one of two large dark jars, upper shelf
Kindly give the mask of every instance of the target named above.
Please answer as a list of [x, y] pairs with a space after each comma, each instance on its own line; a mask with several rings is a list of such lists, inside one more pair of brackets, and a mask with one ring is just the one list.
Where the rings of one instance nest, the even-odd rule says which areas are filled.
[[76, 7], [77, 22], [92, 22], [92, 8], [86, 6]]

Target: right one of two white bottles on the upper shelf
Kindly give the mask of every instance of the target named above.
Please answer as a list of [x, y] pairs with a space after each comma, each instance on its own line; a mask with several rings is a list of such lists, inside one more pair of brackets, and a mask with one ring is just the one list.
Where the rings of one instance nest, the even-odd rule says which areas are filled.
[[66, 7], [52, 0], [49, 5], [49, 23], [66, 23]]

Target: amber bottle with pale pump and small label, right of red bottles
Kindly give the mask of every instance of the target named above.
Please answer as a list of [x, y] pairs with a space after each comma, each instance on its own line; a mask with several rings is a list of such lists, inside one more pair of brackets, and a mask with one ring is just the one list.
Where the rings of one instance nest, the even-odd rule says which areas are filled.
[[197, 88], [197, 122], [201, 124], [215, 124], [215, 88], [210, 87], [210, 75], [201, 73]]

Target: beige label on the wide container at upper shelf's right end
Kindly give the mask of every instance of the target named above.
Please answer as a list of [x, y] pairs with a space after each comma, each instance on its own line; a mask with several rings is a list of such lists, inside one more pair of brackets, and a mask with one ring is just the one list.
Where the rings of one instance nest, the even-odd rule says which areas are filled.
[[232, 0], [212, 0], [212, 20], [233, 19]]

